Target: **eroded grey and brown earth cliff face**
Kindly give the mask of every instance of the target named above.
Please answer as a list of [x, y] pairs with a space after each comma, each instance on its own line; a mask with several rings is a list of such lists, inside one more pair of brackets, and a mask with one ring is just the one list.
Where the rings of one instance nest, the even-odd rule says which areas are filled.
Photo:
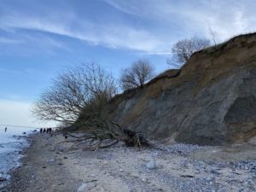
[[163, 142], [247, 142], [256, 136], [256, 33], [196, 52], [106, 110], [125, 129]]

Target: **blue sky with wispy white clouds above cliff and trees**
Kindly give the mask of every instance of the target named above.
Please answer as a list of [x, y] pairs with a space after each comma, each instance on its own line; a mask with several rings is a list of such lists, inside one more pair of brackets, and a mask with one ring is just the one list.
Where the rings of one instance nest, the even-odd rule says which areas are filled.
[[143, 58], [172, 66], [172, 45], [254, 32], [255, 0], [0, 0], [0, 125], [44, 126], [30, 109], [57, 74], [96, 61], [117, 78]]

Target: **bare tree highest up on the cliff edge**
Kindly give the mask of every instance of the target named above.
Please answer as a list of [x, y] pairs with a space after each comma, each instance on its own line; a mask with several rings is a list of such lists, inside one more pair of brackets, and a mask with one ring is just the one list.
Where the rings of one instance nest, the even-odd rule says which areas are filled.
[[178, 41], [172, 47], [172, 59], [167, 60], [167, 63], [174, 66], [180, 66], [189, 60], [190, 56], [195, 51], [205, 49], [210, 46], [211, 42], [207, 38], [185, 38]]

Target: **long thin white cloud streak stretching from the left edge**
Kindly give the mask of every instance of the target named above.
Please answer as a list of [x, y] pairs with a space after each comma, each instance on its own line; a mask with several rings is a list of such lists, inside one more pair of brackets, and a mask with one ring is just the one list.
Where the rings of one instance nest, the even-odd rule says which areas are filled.
[[6, 17], [3, 20], [2, 25], [6, 28], [50, 32], [69, 38], [76, 38], [88, 44], [102, 45], [113, 49], [154, 51], [163, 45], [150, 32], [132, 26], [116, 26], [113, 24], [102, 26], [90, 21], [83, 21], [78, 24], [79, 30], [77, 30], [70, 27], [71, 20], [60, 22], [59, 20], [26, 17]]

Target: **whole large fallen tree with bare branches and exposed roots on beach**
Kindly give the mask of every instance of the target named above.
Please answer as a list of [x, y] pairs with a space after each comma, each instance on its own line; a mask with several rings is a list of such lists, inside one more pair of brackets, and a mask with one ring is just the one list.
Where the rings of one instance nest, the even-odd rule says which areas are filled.
[[62, 131], [65, 137], [72, 138], [65, 141], [73, 143], [72, 148], [86, 144], [87, 149], [96, 150], [119, 141], [127, 146], [146, 146], [148, 142], [140, 133], [124, 130], [103, 113], [116, 91], [111, 73], [91, 62], [59, 75], [39, 97], [33, 113], [41, 120], [66, 125]]

